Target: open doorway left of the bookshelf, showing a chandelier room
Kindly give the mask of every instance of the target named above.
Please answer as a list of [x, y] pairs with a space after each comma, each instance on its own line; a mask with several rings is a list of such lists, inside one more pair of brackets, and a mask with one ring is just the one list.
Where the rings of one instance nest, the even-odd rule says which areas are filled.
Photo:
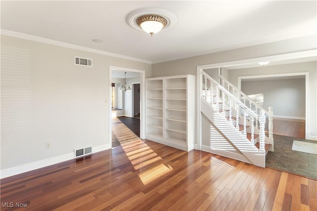
[[[110, 88], [109, 102], [122, 101], [122, 109], [115, 110], [115, 108], [111, 108], [111, 104], [115, 103], [109, 103], [109, 142], [111, 147], [144, 137], [145, 121], [142, 118], [144, 116], [142, 113], [145, 111], [143, 106], [143, 102], [145, 102], [145, 72], [109, 66], [109, 84], [113, 83], [115, 83], [114, 89], [121, 95], [113, 95], [113, 88]], [[131, 90], [120, 89], [125, 83], [130, 86]], [[116, 99], [116, 97], [120, 99]]]

